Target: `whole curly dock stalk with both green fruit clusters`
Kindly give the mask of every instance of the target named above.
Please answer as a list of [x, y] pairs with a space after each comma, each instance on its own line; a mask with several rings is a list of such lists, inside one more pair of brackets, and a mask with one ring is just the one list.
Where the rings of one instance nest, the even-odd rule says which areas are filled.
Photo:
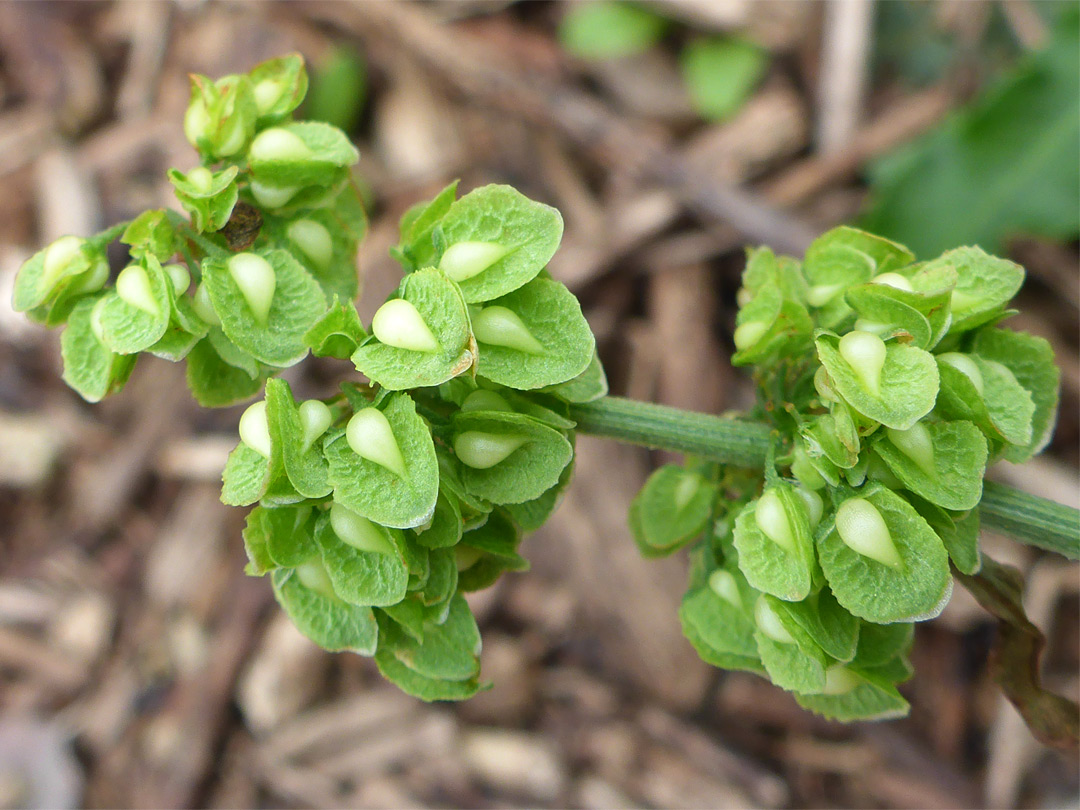
[[[851, 228], [801, 262], [752, 251], [733, 362], [754, 368], [758, 406], [724, 418], [608, 397], [581, 307], [544, 271], [562, 217], [508, 186], [459, 198], [451, 184], [410, 208], [401, 285], [361, 322], [357, 153], [292, 120], [306, 90], [295, 55], [193, 77], [200, 164], [168, 175], [188, 216], [54, 242], [14, 303], [65, 325], [64, 378], [91, 402], [141, 353], [185, 360], [208, 407], [262, 392], [221, 499], [253, 507], [247, 571], [319, 645], [374, 657], [423, 700], [484, 688], [463, 594], [528, 567], [522, 535], [568, 486], [576, 431], [688, 454], [630, 509], [646, 555], [692, 545], [687, 637], [829, 717], [907, 710], [914, 623], [941, 612], [954, 576], [1000, 597], [998, 615], [1015, 606], [980, 579], [981, 518], [1078, 556], [1074, 510], [983, 482], [1055, 421], [1049, 345], [998, 326], [1016, 265], [972, 247], [916, 262]], [[117, 238], [131, 261], [110, 284]], [[350, 369], [336, 396], [298, 402], [276, 375], [308, 354], [367, 381]], [[1011, 690], [1041, 694], [1037, 678]]]

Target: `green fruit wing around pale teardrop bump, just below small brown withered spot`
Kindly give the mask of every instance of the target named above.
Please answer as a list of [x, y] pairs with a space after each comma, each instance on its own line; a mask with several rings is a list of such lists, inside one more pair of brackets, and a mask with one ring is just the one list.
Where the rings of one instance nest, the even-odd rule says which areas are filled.
[[268, 251], [260, 255], [270, 262], [276, 279], [265, 323], [237, 285], [228, 260], [205, 259], [203, 281], [228, 338], [260, 362], [284, 368], [308, 353], [303, 336], [326, 311], [326, 298], [292, 254]]

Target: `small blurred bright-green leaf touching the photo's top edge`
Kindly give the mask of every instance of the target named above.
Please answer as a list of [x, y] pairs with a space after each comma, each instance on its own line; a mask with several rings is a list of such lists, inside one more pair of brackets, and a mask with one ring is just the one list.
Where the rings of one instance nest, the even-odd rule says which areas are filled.
[[621, 0], [567, 5], [558, 26], [563, 48], [580, 59], [617, 59], [648, 51], [660, 41], [667, 21]]

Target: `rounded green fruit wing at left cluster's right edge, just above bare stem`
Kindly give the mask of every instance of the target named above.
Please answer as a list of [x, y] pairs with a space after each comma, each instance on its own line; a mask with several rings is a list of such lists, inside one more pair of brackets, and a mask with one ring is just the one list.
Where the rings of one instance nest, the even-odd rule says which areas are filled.
[[[522, 349], [514, 327], [489, 326], [484, 313], [510, 310], [535, 341]], [[595, 355], [596, 340], [581, 305], [563, 284], [536, 279], [509, 295], [488, 301], [472, 314], [482, 377], [502, 386], [529, 390], [567, 382], [583, 374]], [[495, 340], [500, 343], [492, 342]]]

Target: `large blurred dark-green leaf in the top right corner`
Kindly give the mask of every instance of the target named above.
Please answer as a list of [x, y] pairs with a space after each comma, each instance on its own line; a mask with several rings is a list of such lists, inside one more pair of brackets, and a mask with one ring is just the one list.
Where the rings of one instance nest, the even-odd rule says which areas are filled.
[[1080, 71], [1075, 10], [1052, 41], [974, 103], [870, 168], [866, 227], [934, 256], [997, 252], [1026, 232], [1070, 239], [1080, 221]]

